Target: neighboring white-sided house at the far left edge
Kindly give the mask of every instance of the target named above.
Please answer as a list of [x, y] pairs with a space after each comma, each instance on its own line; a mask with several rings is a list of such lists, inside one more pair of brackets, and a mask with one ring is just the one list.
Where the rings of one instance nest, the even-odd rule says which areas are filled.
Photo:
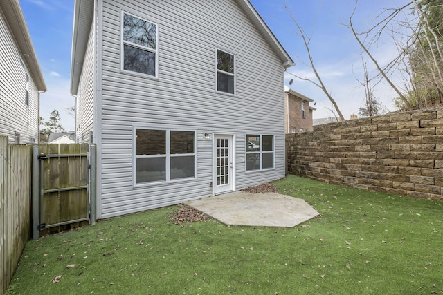
[[0, 135], [39, 141], [39, 93], [46, 85], [19, 0], [0, 1]]

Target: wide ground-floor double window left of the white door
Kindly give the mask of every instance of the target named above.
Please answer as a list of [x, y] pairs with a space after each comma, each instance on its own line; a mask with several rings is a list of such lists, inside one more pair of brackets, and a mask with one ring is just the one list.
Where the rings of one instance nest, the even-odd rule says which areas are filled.
[[195, 131], [135, 129], [135, 184], [195, 178]]

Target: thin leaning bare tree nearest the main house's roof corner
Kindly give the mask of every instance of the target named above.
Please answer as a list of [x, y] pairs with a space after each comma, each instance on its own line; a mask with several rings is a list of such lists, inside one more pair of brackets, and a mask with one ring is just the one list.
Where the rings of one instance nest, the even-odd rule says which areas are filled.
[[[301, 79], [304, 81], [309, 81], [312, 84], [314, 84], [315, 86], [317, 86], [318, 88], [320, 88], [323, 91], [323, 93], [325, 93], [325, 95], [327, 96], [329, 101], [332, 102], [332, 105], [334, 106], [334, 109], [336, 110], [340, 121], [344, 121], [345, 118], [343, 117], [343, 115], [340, 111], [340, 108], [338, 108], [338, 105], [337, 105], [336, 101], [334, 100], [334, 98], [332, 97], [331, 93], [329, 91], [327, 91], [327, 88], [326, 88], [325, 84], [323, 83], [323, 79], [321, 79], [320, 74], [318, 73], [318, 70], [314, 64], [314, 58], [312, 57], [311, 50], [309, 49], [309, 43], [311, 42], [312, 35], [309, 37], [306, 35], [305, 30], [303, 30], [302, 26], [300, 26], [300, 23], [298, 23], [298, 21], [296, 20], [296, 17], [294, 17], [293, 13], [291, 11], [289, 11], [289, 8], [287, 7], [286, 0], [284, 0], [284, 9], [286, 9], [289, 17], [291, 17], [291, 20], [293, 21], [293, 23], [297, 27], [296, 35], [298, 35], [302, 39], [303, 44], [305, 45], [306, 53], [307, 53], [307, 56], [309, 59], [309, 64], [302, 61], [302, 59], [300, 59], [300, 57], [298, 57], [298, 59], [302, 62], [302, 64], [305, 64], [306, 66], [309, 66], [312, 69], [312, 71], [314, 72], [314, 75], [316, 75], [317, 82], [313, 81], [312, 79], [308, 79], [307, 77], [300, 77], [299, 75], [295, 75], [293, 73], [289, 73], [289, 74], [293, 75], [294, 77], [296, 77], [298, 79]], [[334, 115], [335, 115], [335, 113], [334, 113]]]

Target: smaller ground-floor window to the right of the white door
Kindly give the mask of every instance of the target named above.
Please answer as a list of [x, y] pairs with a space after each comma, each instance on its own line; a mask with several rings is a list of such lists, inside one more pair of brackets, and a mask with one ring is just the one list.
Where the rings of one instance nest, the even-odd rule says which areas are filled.
[[273, 135], [246, 135], [246, 171], [274, 168]]

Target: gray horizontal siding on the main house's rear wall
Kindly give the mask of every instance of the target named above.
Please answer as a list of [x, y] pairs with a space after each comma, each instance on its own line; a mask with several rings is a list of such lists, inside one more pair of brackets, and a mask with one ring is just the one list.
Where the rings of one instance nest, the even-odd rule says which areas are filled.
[[[103, 6], [98, 218], [210, 196], [213, 145], [204, 133], [235, 135], [235, 189], [284, 176], [282, 61], [235, 2], [105, 0]], [[158, 79], [120, 70], [122, 10], [158, 24]], [[216, 48], [235, 55], [236, 95], [215, 91]], [[197, 131], [197, 179], [133, 187], [134, 126]], [[248, 133], [275, 135], [275, 169], [246, 173]]]

